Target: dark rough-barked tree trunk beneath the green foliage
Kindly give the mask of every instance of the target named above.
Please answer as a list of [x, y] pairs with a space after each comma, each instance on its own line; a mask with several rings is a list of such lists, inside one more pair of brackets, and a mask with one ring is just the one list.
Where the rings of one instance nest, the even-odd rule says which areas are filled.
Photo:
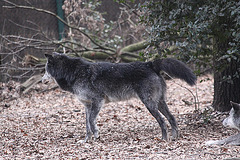
[[[214, 100], [213, 107], [217, 111], [229, 111], [230, 101], [240, 103], [240, 64], [233, 59], [219, 59], [226, 55], [228, 42], [214, 44]], [[230, 58], [230, 57], [229, 57]]]

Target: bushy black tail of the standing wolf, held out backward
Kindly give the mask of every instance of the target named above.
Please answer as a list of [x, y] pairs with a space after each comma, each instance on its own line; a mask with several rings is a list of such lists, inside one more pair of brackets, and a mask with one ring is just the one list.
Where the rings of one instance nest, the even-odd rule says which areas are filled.
[[165, 71], [171, 77], [179, 78], [186, 81], [189, 85], [195, 85], [197, 77], [193, 74], [192, 70], [186, 66], [183, 62], [172, 59], [157, 59], [152, 62], [153, 70], [159, 74], [159, 72]]

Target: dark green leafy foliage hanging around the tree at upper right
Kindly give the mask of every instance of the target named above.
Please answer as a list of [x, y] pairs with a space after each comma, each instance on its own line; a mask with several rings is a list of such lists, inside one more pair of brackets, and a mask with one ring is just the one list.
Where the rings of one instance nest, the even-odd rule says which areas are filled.
[[225, 62], [239, 61], [239, 1], [150, 0], [141, 9], [141, 21], [150, 26], [149, 41], [162, 55], [173, 54], [160, 45], [168, 43], [179, 49], [174, 52], [178, 58], [199, 66], [211, 64], [214, 54]]

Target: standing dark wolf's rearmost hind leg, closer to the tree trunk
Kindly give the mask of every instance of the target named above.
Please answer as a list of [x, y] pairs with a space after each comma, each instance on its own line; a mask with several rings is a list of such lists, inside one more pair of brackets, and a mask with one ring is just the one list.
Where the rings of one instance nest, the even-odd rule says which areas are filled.
[[172, 127], [172, 137], [173, 140], [178, 138], [178, 127], [177, 122], [174, 116], [171, 114], [171, 112], [168, 109], [168, 106], [164, 100], [161, 100], [158, 103], [158, 110], [167, 118], [169, 121], [171, 127]]

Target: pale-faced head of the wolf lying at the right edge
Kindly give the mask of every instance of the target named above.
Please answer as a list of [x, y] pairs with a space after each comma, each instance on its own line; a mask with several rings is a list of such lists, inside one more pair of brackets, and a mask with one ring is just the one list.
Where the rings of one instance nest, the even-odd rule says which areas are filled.
[[230, 103], [232, 105], [232, 109], [229, 116], [224, 119], [223, 125], [240, 130], [240, 104], [234, 102]]

